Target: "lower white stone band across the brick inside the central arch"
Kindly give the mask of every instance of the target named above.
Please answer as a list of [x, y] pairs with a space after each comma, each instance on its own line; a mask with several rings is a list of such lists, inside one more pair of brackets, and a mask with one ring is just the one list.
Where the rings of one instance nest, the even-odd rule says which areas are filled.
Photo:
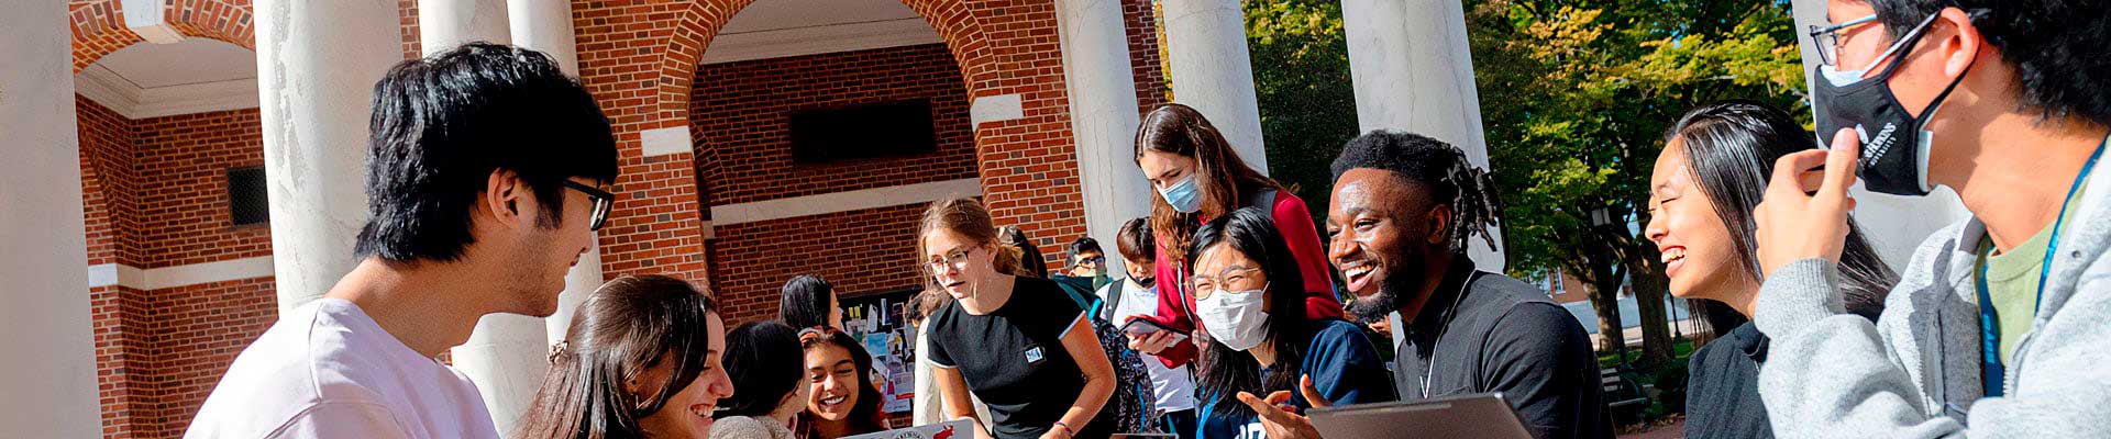
[[904, 184], [904, 186], [887, 186], [870, 190], [847, 190], [834, 194], [809, 194], [809, 196], [711, 207], [711, 224], [728, 226], [747, 222], [768, 222], [785, 217], [861, 211], [876, 207], [916, 205], [946, 196], [980, 196], [980, 194], [982, 194], [980, 179]]

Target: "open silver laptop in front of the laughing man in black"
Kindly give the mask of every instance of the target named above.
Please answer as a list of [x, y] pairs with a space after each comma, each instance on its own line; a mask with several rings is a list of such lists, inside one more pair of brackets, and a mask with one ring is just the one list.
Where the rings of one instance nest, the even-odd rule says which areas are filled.
[[1533, 439], [1501, 393], [1313, 409], [1321, 437]]

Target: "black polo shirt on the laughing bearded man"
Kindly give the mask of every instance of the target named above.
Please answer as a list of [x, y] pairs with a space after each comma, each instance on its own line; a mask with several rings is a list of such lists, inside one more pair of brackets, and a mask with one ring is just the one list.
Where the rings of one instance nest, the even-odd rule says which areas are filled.
[[1547, 291], [1452, 260], [1404, 323], [1393, 384], [1402, 401], [1503, 393], [1533, 437], [1613, 437], [1590, 336]]

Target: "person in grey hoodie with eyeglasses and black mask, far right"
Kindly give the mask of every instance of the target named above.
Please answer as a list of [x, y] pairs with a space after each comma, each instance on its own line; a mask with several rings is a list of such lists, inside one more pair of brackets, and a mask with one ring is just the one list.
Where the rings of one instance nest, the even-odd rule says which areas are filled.
[[[2111, 2], [1832, 0], [1818, 135], [1756, 207], [1780, 437], [2111, 437]], [[1818, 171], [1815, 167], [1824, 167]], [[1822, 177], [1820, 177], [1822, 175]], [[1841, 308], [1847, 186], [1957, 190], [1877, 323]]]

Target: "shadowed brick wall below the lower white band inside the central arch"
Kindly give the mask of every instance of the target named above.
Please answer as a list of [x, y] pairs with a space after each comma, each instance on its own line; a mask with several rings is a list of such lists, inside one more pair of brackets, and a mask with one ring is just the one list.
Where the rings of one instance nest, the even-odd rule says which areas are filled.
[[918, 287], [916, 219], [925, 205], [720, 226], [711, 287], [728, 323], [775, 319], [779, 291], [819, 274], [842, 295]]

